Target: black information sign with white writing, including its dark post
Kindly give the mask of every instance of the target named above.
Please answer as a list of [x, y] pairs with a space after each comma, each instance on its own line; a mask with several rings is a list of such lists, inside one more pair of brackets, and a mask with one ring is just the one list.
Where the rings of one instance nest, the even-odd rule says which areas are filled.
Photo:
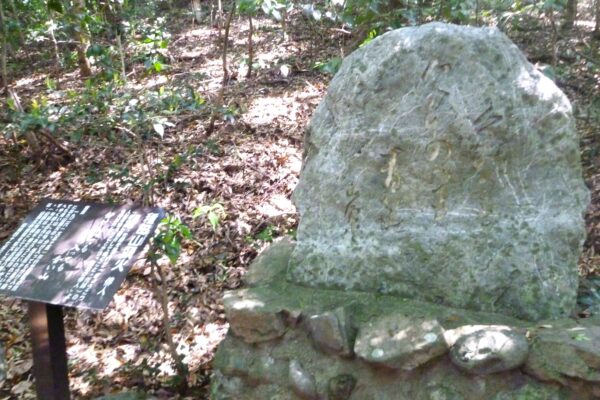
[[29, 301], [38, 399], [70, 399], [63, 306], [104, 309], [162, 216], [45, 199], [0, 246], [0, 294]]

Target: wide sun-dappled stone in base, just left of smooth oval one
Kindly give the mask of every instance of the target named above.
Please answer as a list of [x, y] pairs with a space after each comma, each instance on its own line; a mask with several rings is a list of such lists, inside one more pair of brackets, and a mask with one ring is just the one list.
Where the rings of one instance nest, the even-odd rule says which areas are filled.
[[391, 315], [359, 328], [354, 352], [373, 364], [410, 371], [448, 351], [436, 320]]

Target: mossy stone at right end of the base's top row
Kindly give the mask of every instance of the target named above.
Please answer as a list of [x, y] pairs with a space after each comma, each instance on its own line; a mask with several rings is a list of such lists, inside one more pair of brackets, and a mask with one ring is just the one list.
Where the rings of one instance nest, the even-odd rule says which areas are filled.
[[567, 378], [577, 378], [600, 385], [600, 326], [541, 329], [525, 369], [545, 381], [567, 384]]

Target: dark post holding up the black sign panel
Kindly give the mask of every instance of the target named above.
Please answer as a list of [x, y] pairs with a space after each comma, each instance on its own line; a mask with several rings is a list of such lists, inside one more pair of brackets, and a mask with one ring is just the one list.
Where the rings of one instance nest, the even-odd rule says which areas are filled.
[[69, 400], [67, 346], [61, 306], [30, 301], [33, 374], [38, 399]]

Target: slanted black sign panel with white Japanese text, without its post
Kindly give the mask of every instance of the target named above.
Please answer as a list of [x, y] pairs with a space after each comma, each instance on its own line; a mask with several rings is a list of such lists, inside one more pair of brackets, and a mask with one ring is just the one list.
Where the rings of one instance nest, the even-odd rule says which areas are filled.
[[162, 216], [159, 208], [43, 200], [0, 247], [0, 294], [103, 309]]

